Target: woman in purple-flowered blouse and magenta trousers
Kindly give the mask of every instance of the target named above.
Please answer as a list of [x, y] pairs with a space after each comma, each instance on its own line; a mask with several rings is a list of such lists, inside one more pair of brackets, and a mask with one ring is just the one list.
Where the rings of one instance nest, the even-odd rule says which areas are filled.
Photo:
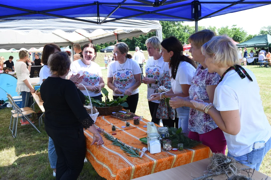
[[202, 144], [209, 146], [214, 153], [225, 154], [227, 143], [222, 130], [218, 128], [209, 114], [198, 111], [190, 102], [194, 98], [208, 103], [212, 103], [214, 100], [214, 92], [220, 76], [217, 73], [208, 72], [208, 68], [204, 63], [205, 57], [201, 53], [201, 46], [214, 36], [216, 36], [214, 31], [205, 29], [189, 37], [188, 41], [191, 42], [189, 52], [192, 53], [194, 60], [199, 65], [189, 88], [189, 96], [172, 98], [169, 104], [172, 108], [190, 107], [188, 120], [189, 138], [202, 141]]

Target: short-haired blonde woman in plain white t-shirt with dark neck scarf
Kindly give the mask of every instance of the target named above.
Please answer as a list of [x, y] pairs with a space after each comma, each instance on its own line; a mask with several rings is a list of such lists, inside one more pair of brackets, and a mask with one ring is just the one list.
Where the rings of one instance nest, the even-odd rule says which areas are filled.
[[227, 155], [258, 171], [271, 148], [271, 127], [264, 115], [256, 77], [238, 65], [237, 47], [228, 36], [213, 37], [202, 46], [202, 52], [208, 72], [217, 72], [221, 79], [213, 104], [196, 97], [191, 102], [224, 132]]

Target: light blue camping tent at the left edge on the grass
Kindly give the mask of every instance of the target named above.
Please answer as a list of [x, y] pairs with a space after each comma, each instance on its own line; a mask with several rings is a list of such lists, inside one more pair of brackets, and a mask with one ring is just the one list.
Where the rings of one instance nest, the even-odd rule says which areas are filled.
[[7, 100], [7, 93], [18, 96], [16, 92], [17, 78], [8, 73], [0, 73], [0, 100]]

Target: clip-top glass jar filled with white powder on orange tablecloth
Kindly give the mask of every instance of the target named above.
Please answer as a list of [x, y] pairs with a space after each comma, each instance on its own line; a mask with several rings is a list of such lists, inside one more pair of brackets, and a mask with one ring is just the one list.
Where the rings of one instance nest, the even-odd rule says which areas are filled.
[[161, 152], [161, 144], [159, 138], [160, 135], [158, 133], [150, 133], [147, 135], [148, 151], [150, 154]]

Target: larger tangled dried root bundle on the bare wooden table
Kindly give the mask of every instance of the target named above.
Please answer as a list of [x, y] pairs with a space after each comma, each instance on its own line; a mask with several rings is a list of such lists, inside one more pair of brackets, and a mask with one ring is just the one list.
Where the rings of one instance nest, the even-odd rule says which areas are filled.
[[236, 175], [241, 172], [241, 168], [236, 163], [234, 158], [227, 157], [221, 153], [213, 153], [207, 170], [214, 175], [221, 173]]

